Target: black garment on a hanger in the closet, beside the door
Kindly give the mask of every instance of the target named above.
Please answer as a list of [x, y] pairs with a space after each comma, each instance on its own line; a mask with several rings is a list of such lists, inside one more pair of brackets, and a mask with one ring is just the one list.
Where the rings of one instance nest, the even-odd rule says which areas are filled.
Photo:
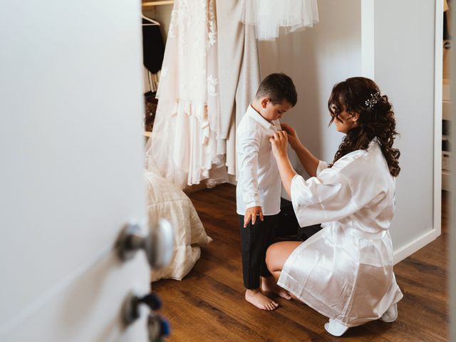
[[[150, 21], [142, 19], [142, 24]], [[142, 25], [142, 60], [151, 73], [157, 73], [162, 68], [165, 55], [165, 43], [158, 25]]]

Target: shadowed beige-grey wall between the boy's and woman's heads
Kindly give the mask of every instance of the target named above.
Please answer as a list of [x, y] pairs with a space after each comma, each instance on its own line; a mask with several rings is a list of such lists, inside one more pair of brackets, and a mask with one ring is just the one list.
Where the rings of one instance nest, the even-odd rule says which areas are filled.
[[314, 28], [259, 42], [259, 61], [261, 78], [277, 72], [293, 78], [298, 103], [284, 122], [316, 157], [332, 160], [343, 135], [328, 128], [327, 102], [335, 83], [361, 73], [361, 0], [320, 0], [318, 11]]

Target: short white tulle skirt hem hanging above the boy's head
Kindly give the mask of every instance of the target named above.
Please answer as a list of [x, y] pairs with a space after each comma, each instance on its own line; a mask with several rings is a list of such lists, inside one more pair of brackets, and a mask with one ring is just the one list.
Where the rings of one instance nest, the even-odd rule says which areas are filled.
[[286, 32], [318, 23], [316, 0], [244, 0], [244, 24], [256, 27], [259, 41], [273, 41], [282, 26]]

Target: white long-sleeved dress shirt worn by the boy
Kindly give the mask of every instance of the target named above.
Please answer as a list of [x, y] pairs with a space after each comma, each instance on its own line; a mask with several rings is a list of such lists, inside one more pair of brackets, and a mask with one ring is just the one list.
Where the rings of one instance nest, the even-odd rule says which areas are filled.
[[260, 206], [264, 215], [280, 212], [281, 179], [269, 138], [281, 130], [249, 105], [237, 127], [237, 214]]

